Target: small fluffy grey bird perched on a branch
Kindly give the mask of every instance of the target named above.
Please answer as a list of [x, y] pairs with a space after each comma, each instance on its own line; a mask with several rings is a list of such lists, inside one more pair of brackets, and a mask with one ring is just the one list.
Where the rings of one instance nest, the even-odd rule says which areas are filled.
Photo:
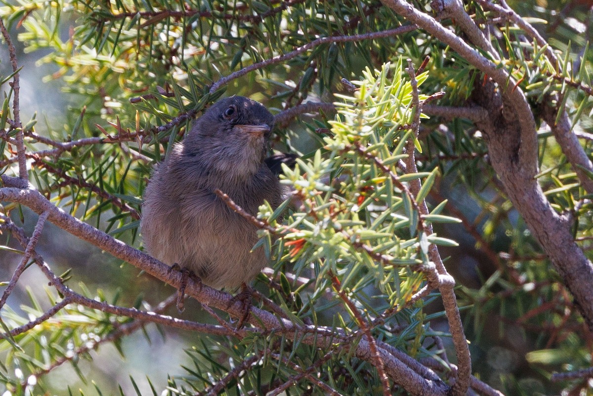
[[278, 160], [266, 159], [272, 125], [272, 114], [243, 96], [221, 99], [194, 122], [146, 188], [141, 233], [152, 256], [213, 288], [237, 288], [262, 271], [264, 250], [251, 252], [256, 226], [214, 191], [250, 214], [264, 199], [280, 205], [284, 190], [272, 171]]

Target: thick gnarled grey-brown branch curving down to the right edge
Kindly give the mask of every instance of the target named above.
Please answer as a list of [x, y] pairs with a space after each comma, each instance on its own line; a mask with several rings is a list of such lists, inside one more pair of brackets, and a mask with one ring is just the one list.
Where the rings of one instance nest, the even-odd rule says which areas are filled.
[[574, 242], [567, 219], [553, 210], [534, 178], [538, 169], [535, 121], [517, 82], [505, 69], [497, 69], [495, 63], [409, 3], [403, 0], [382, 2], [457, 51], [498, 85], [488, 81], [481, 85], [476, 83], [473, 95], [474, 101], [489, 111], [489, 117], [477, 125], [484, 131], [493, 168], [506, 194], [575, 297], [589, 329], [593, 330], [593, 289], [590, 287], [593, 264]]

